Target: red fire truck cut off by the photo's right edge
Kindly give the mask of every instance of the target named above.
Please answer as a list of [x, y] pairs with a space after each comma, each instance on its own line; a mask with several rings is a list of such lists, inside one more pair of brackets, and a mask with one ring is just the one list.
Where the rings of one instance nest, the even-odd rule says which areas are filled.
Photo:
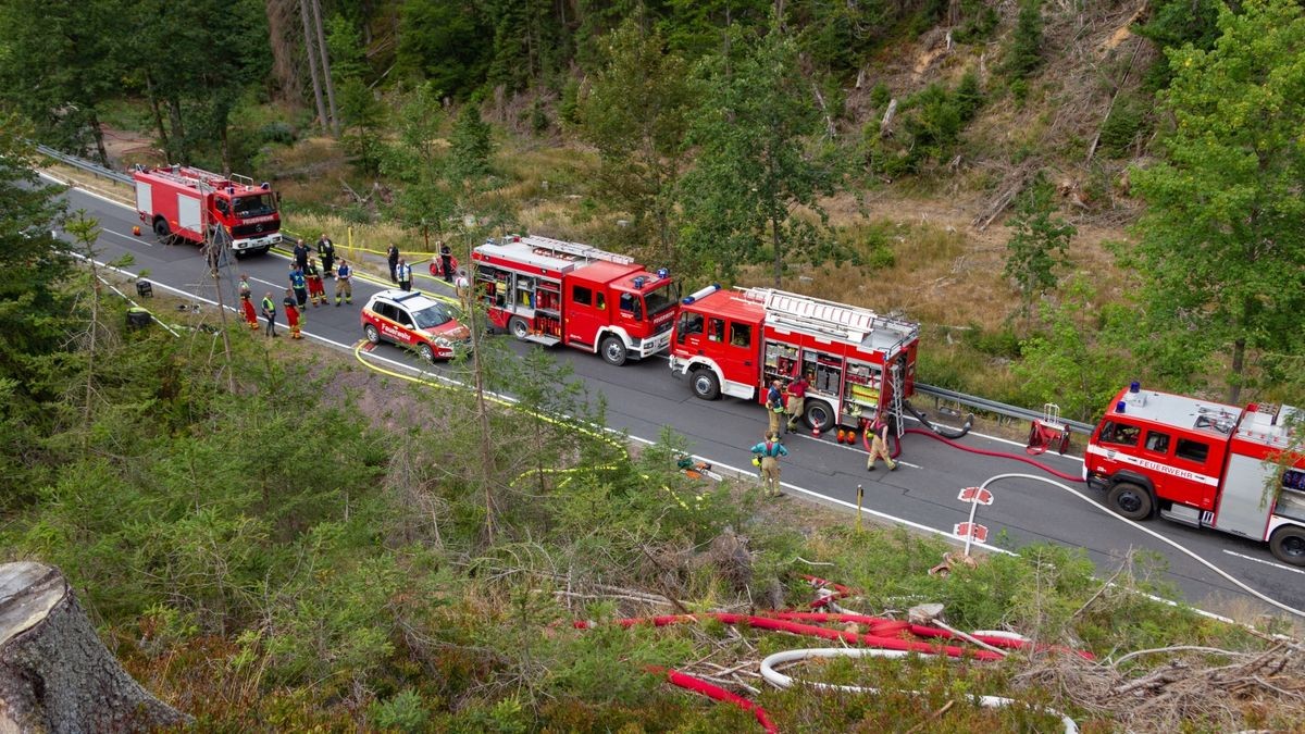
[[1278, 559], [1305, 566], [1305, 457], [1293, 435], [1301, 417], [1289, 406], [1240, 409], [1133, 383], [1092, 432], [1084, 479], [1130, 520], [1159, 511], [1267, 541]]

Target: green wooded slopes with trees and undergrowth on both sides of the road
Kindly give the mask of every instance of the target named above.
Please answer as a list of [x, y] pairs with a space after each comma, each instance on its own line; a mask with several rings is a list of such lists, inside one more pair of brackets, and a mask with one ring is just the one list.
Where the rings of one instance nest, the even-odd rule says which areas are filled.
[[[0, 0], [0, 562], [59, 567], [200, 730], [761, 729], [667, 670], [786, 731], [1293, 730], [1291, 624], [1163, 603], [1150, 554], [930, 575], [937, 538], [594, 430], [542, 350], [488, 341], [463, 392], [206, 313], [125, 328], [33, 146], [248, 172], [295, 230], [405, 252], [474, 214], [904, 315], [921, 381], [1095, 421], [1133, 379], [1302, 402], [1301, 129], [1291, 0]], [[800, 645], [722, 615], [816, 610], [813, 576], [1036, 645], [770, 687]]]

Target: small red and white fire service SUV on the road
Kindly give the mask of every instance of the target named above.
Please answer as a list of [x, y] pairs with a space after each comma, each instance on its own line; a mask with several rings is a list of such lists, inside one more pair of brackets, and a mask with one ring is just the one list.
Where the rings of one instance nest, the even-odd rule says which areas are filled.
[[367, 341], [390, 341], [423, 359], [450, 359], [471, 346], [471, 332], [453, 308], [416, 291], [382, 290], [368, 299], [361, 319]]

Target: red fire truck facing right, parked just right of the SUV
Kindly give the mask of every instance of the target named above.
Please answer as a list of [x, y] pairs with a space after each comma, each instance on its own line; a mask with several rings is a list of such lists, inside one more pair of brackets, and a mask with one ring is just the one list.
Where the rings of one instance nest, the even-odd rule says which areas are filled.
[[521, 341], [564, 343], [625, 364], [667, 349], [679, 285], [632, 257], [545, 236], [510, 235], [471, 252], [489, 320]]

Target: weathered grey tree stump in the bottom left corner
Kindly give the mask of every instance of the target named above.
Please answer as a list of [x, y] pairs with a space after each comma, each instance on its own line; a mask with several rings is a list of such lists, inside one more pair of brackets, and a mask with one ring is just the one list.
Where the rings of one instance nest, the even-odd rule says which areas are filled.
[[57, 568], [0, 564], [0, 734], [146, 731], [192, 721], [123, 670]]

